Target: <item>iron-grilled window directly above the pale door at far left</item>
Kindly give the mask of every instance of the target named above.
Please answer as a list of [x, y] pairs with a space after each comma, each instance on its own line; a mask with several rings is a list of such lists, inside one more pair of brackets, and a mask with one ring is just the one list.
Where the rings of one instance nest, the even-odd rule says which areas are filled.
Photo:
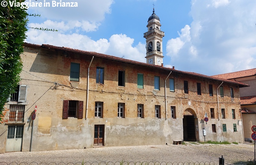
[[25, 105], [10, 105], [8, 123], [24, 122]]

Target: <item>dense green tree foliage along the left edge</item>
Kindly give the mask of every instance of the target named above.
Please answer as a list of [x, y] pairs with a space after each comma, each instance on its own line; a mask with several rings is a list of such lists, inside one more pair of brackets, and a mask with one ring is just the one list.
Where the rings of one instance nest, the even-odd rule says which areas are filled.
[[0, 116], [3, 115], [4, 104], [8, 97], [15, 92], [20, 82], [22, 70], [20, 54], [23, 52], [28, 23], [26, 10], [0, 5]]

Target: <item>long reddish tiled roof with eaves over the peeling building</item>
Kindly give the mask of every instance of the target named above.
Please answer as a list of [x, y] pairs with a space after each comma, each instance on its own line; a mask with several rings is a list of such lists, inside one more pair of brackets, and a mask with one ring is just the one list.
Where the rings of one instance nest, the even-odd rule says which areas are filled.
[[208, 75], [202, 75], [202, 74], [194, 73], [194, 72], [180, 71], [180, 70], [176, 70], [176, 69], [172, 69], [172, 68], [165, 68], [165, 67], [158, 66], [158, 65], [147, 64], [147, 63], [144, 63], [144, 62], [128, 60], [128, 59], [115, 57], [115, 56], [111, 56], [111, 55], [106, 55], [106, 54], [101, 54], [101, 53], [96, 53], [96, 52], [89, 52], [89, 51], [84, 51], [84, 50], [72, 49], [72, 48], [68, 48], [68, 47], [56, 47], [56, 46], [47, 45], [47, 44], [35, 45], [35, 44], [30, 44], [30, 43], [24, 43], [24, 45], [25, 46], [26, 45], [27, 46], [32, 46], [32, 47], [42, 47], [42, 48], [52, 49], [52, 50], [72, 51], [72, 52], [75, 52], [75, 53], [81, 53], [81, 54], [91, 55], [91, 56], [95, 56], [95, 57], [100, 57], [100, 58], [105, 58], [105, 59], [110, 59], [110, 60], [115, 60], [115, 61], [121, 61], [121, 62], [130, 63], [130, 64], [136, 64], [136, 65], [140, 65], [140, 66], [146, 66], [146, 67], [150, 67], [150, 68], [154, 68], [154, 69], [162, 69], [162, 70], [172, 71], [172, 72], [176, 72], [176, 73], [182, 73], [182, 74], [186, 74], [186, 75], [202, 77], [202, 78], [206, 78], [206, 79], [210, 79], [210, 80], [217, 80], [217, 81], [220, 81], [220, 82], [223, 81], [223, 82], [227, 82], [227, 83], [237, 84], [237, 85], [239, 85], [240, 88], [249, 86], [249, 85], [244, 84], [244, 83], [235, 82], [235, 81], [231, 81], [231, 80], [227, 80], [227, 79], [223, 79], [223, 78], [218, 78], [218, 77], [213, 77], [213, 76], [208, 76]]

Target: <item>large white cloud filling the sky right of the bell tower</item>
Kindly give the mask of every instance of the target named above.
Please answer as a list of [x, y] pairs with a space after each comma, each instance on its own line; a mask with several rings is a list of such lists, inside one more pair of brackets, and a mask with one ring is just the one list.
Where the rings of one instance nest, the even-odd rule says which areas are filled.
[[[193, 22], [167, 42], [171, 65], [216, 75], [256, 68], [256, 1], [192, 0]], [[187, 68], [187, 69], [184, 69]]]

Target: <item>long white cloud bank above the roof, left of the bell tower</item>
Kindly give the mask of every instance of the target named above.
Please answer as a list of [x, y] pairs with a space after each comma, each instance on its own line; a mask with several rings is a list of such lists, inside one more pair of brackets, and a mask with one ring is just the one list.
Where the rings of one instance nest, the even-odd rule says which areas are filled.
[[60, 32], [45, 32], [29, 29], [26, 33], [29, 38], [25, 42], [32, 44], [49, 44], [59, 47], [70, 47], [85, 51], [110, 54], [125, 59], [146, 62], [145, 44], [138, 43], [132, 46], [134, 39], [125, 34], [114, 34], [109, 40], [92, 40], [86, 35], [77, 33], [61, 34]]

